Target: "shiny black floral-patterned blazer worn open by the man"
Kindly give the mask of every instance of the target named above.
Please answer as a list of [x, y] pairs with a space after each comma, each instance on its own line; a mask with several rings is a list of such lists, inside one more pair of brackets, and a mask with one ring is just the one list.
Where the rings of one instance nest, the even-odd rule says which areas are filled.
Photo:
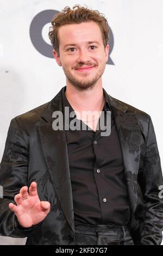
[[[52, 129], [52, 113], [62, 111], [60, 92], [50, 102], [18, 115], [10, 123], [1, 162], [0, 234], [26, 237], [27, 245], [74, 245], [73, 199], [64, 130]], [[160, 245], [163, 185], [159, 151], [151, 117], [108, 95], [120, 137], [135, 244]], [[21, 228], [9, 202], [22, 186], [37, 182], [40, 200], [51, 211], [40, 224]]]

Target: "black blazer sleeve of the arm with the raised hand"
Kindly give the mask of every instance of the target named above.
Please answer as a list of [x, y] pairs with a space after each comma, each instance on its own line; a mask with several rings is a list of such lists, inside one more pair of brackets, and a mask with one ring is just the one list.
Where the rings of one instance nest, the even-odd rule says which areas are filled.
[[9, 209], [9, 203], [15, 203], [14, 197], [21, 187], [27, 186], [28, 156], [28, 145], [14, 118], [9, 126], [0, 169], [0, 185], [3, 191], [0, 198], [0, 235], [26, 237], [37, 227], [21, 227], [16, 215]]

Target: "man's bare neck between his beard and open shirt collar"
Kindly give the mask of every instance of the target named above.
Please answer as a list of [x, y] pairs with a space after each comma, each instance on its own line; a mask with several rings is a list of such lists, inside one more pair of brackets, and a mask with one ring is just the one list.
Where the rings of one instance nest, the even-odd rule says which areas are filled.
[[102, 111], [104, 106], [102, 86], [79, 91], [75, 87], [67, 85], [65, 95], [74, 111]]

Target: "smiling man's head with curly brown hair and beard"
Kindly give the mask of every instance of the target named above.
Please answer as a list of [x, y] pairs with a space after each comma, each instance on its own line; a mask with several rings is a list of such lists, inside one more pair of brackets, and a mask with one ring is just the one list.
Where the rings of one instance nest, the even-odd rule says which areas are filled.
[[66, 7], [54, 17], [49, 38], [67, 82], [85, 89], [101, 79], [109, 53], [109, 26], [102, 14], [79, 5]]

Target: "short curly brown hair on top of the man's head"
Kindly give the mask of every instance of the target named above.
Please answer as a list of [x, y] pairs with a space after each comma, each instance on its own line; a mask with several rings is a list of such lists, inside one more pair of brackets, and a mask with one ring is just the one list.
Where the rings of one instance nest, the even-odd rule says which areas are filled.
[[52, 20], [52, 27], [49, 28], [49, 39], [54, 50], [59, 55], [59, 40], [58, 40], [58, 31], [61, 26], [90, 22], [94, 21], [101, 28], [103, 36], [104, 47], [108, 44], [109, 41], [109, 25], [108, 21], [105, 19], [104, 14], [99, 13], [98, 10], [90, 10], [86, 7], [80, 7], [79, 4], [76, 4], [71, 9], [70, 7], [65, 7], [60, 13], [55, 14]]

